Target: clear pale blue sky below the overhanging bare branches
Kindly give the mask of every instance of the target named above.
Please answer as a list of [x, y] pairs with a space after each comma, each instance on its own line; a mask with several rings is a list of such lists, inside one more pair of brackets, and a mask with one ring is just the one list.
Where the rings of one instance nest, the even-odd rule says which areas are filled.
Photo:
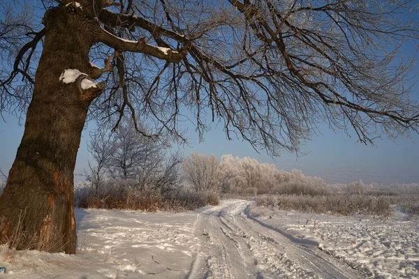
[[[406, 47], [406, 54], [414, 52], [414, 45]], [[413, 74], [419, 72], [416, 65]], [[419, 100], [419, 90], [413, 92], [412, 97]], [[18, 125], [17, 119], [8, 114], [0, 118], [0, 168], [7, 174], [10, 169], [17, 146], [23, 134], [23, 126]], [[22, 121], [24, 123], [24, 121]], [[94, 128], [93, 123], [84, 130], [75, 174], [82, 174], [87, 168], [90, 156], [87, 152], [89, 129]], [[357, 143], [355, 135], [348, 137], [345, 133], [337, 133], [320, 126], [322, 135], [314, 136], [311, 142], [302, 146], [302, 151], [309, 153], [297, 158], [295, 154], [282, 153], [279, 158], [270, 158], [265, 151], [257, 153], [247, 142], [234, 140], [228, 142], [222, 128], [213, 128], [205, 135], [205, 141], [198, 143], [198, 137], [193, 127], [189, 128], [189, 137], [192, 145], [180, 146], [184, 156], [197, 151], [198, 153], [223, 154], [233, 156], [256, 158], [259, 162], [274, 163], [279, 169], [291, 171], [301, 169], [304, 174], [321, 176], [328, 183], [348, 183], [362, 179], [365, 183], [419, 183], [419, 135], [413, 134], [411, 139], [376, 140], [376, 146], [365, 146]], [[83, 181], [82, 176], [75, 176], [76, 181]]]

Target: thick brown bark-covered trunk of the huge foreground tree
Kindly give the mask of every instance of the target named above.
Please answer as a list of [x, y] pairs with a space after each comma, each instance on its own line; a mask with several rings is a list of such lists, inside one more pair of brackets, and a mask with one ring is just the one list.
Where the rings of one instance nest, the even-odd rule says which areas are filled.
[[45, 43], [24, 135], [0, 197], [0, 243], [17, 249], [75, 253], [73, 172], [91, 100], [64, 69], [89, 71], [88, 26], [64, 7], [44, 17]]

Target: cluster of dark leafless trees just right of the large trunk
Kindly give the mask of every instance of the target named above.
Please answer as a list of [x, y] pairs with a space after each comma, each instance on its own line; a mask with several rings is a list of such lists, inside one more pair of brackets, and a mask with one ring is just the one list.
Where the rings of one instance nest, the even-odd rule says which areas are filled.
[[179, 152], [169, 153], [165, 141], [152, 140], [137, 133], [129, 121], [122, 122], [112, 133], [106, 133], [103, 129], [91, 133], [88, 150], [94, 164], [89, 162], [86, 177], [96, 194], [98, 188], [110, 178], [134, 190], [158, 190], [164, 193], [181, 186], [179, 165], [182, 158]]

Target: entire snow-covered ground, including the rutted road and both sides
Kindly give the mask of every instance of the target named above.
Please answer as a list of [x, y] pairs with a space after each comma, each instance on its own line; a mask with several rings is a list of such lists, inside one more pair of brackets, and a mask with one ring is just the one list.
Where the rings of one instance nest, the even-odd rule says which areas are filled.
[[[77, 209], [78, 254], [0, 247], [0, 278], [419, 278], [418, 219], [253, 208]], [[260, 216], [258, 216], [260, 214]]]

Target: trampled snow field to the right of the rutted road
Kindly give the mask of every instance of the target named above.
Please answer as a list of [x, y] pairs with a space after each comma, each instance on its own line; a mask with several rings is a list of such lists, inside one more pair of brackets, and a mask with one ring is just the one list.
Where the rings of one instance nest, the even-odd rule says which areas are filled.
[[419, 220], [397, 206], [393, 216], [330, 216], [296, 211], [265, 211], [257, 219], [321, 250], [372, 278], [419, 277]]

